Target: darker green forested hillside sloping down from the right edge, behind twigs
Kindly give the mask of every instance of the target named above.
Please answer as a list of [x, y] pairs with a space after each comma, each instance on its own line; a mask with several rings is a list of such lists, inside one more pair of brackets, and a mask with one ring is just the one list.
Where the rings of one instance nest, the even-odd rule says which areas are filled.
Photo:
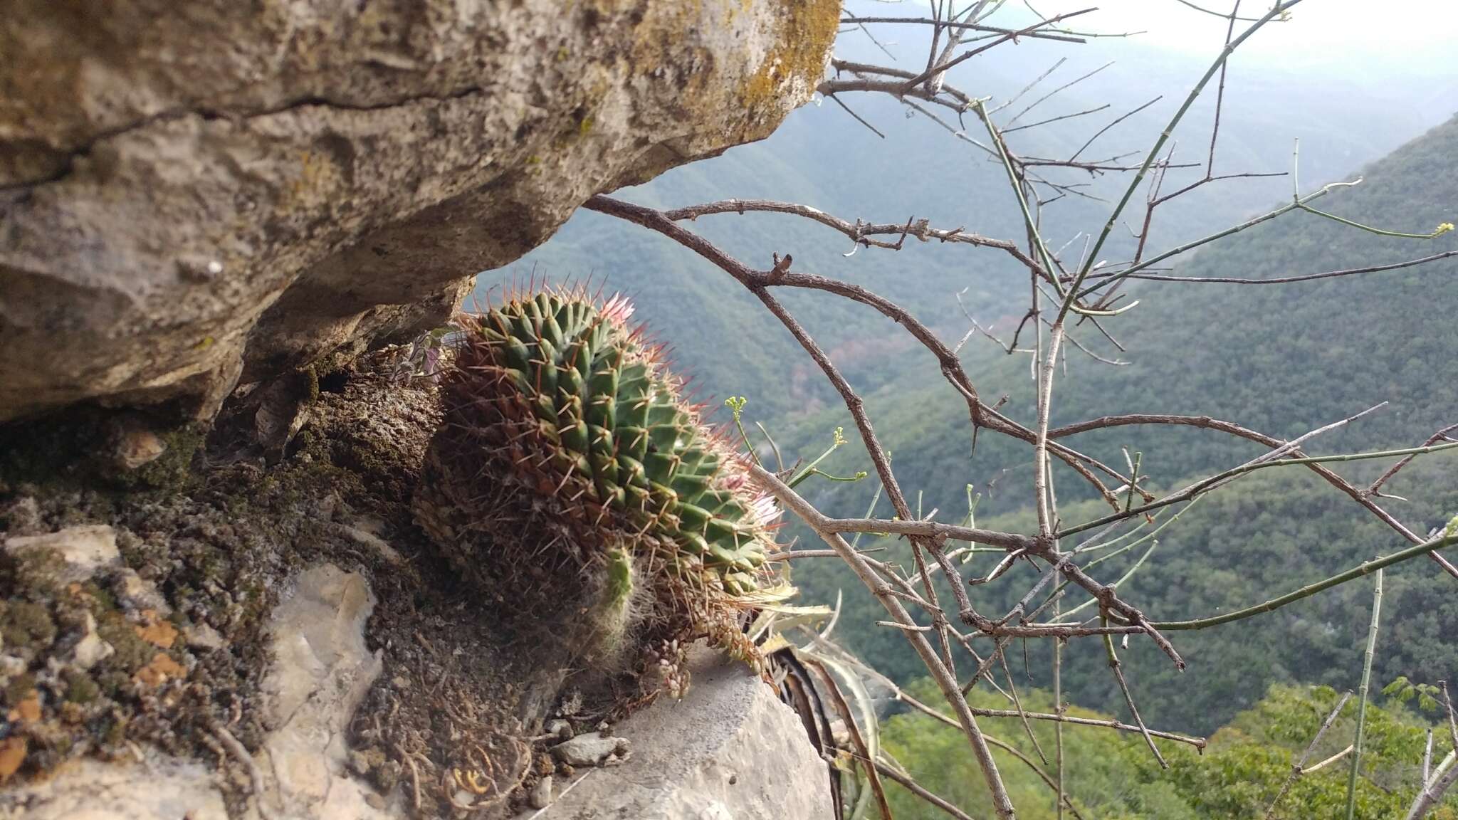
[[[1451, 166], [1448, 158], [1455, 149], [1458, 120], [1363, 169], [1362, 185], [1333, 194], [1328, 209], [1407, 231], [1430, 231], [1449, 222], [1458, 213], [1458, 179], [1435, 171]], [[1212, 247], [1175, 273], [1268, 279], [1350, 268], [1451, 250], [1454, 236], [1379, 238], [1296, 214]], [[1458, 260], [1295, 285], [1140, 283], [1131, 289], [1140, 306], [1127, 314], [1127, 330], [1110, 324], [1128, 349], [1124, 357], [1130, 363], [1114, 368], [1070, 353], [1053, 423], [1108, 413], [1188, 413], [1289, 438], [1388, 401], [1384, 410], [1318, 438], [1309, 449], [1344, 452], [1422, 444], [1436, 429], [1458, 422], [1455, 282]], [[1091, 344], [1098, 341], [1091, 339]], [[1099, 349], [1108, 352], [1108, 344]], [[987, 341], [968, 360], [984, 391], [1009, 394], [1009, 413], [1031, 420], [1034, 385], [1025, 355], [1007, 356]], [[945, 384], [908, 375], [876, 391], [868, 407], [886, 430], [898, 477], [924, 493], [924, 509], [939, 506], [949, 517], [962, 515], [965, 486], [971, 483], [983, 493], [981, 524], [1022, 531], [1031, 525], [1032, 514], [1025, 506], [1031, 499], [1026, 448], [983, 435], [975, 458], [970, 458], [965, 406]], [[796, 442], [796, 451], [812, 451], [815, 436], [824, 438], [837, 423], [846, 423], [843, 411], [814, 419], [786, 438]], [[1120, 446], [1142, 452], [1142, 471], [1165, 489], [1260, 452], [1258, 445], [1197, 429], [1120, 428], [1070, 441], [1112, 460], [1123, 458]], [[831, 470], [841, 473], [863, 463], [865, 454], [856, 452], [854, 442], [830, 461]], [[1353, 464], [1341, 471], [1371, 479], [1379, 467]], [[1060, 495], [1076, 498], [1076, 476], [1057, 474]], [[825, 484], [818, 500], [828, 500], [841, 514], [860, 514], [872, 490]], [[1426, 533], [1458, 512], [1458, 458], [1452, 452], [1426, 457], [1389, 492], [1407, 500], [1384, 503]], [[1002, 517], [996, 517], [999, 511]], [[1102, 512], [1098, 502], [1085, 502], [1066, 505], [1063, 514], [1073, 522]], [[1161, 533], [1159, 541], [1139, 575], [1121, 587], [1159, 619], [1216, 614], [1260, 603], [1401, 544], [1372, 515], [1299, 468], [1251, 476], [1217, 492]], [[1137, 557], [1112, 562], [1107, 575], [1117, 578]], [[865, 607], [859, 614], [869, 617], [875, 611], [876, 604], [859, 595], [849, 573], [831, 563], [805, 566], [796, 579], [814, 591], [812, 597], [834, 597], [844, 588], [854, 601], [850, 606]], [[1458, 646], [1443, 638], [1458, 630], [1458, 604], [1451, 591], [1452, 579], [1429, 562], [1391, 573], [1376, 662], [1382, 680], [1400, 674], [1438, 680], [1458, 667]], [[984, 595], [1003, 606], [1016, 597], [1003, 601], [996, 589]], [[1146, 716], [1191, 731], [1220, 725], [1254, 703], [1271, 681], [1352, 686], [1360, 668], [1357, 646], [1369, 595], [1368, 585], [1350, 585], [1264, 620], [1181, 635], [1178, 643], [1191, 657], [1191, 671], [1182, 676], [1158, 651], [1131, 646], [1137, 664], [1131, 686]], [[904, 641], [882, 632], [851, 627], [841, 632], [841, 639], [881, 658], [894, 674], [921, 674]], [[1069, 658], [1075, 697], [1115, 711], [1120, 696], [1102, 649], [1075, 645]], [[1032, 668], [1045, 670], [1047, 662], [1040, 658]], [[1035, 673], [1032, 681], [1047, 686], [1047, 673]]]

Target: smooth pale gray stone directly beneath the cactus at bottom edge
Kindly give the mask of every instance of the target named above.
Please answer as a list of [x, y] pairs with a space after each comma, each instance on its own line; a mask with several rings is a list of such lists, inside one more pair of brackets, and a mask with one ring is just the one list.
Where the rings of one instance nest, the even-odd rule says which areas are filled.
[[682, 700], [617, 727], [633, 757], [564, 784], [539, 820], [834, 820], [825, 762], [799, 716], [739, 662], [695, 649], [690, 668]]

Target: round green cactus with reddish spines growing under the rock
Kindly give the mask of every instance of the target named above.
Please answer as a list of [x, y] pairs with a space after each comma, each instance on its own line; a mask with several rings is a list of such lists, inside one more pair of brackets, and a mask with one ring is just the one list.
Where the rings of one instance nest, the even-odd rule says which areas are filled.
[[767, 578], [776, 517], [630, 317], [576, 287], [464, 318], [416, 498], [468, 578], [592, 613], [605, 652], [634, 622], [665, 642], [722, 624]]

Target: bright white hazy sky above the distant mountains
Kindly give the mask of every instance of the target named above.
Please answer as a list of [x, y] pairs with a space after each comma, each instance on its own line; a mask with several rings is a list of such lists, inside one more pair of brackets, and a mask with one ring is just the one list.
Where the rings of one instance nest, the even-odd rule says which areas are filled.
[[[1207, 9], [1231, 7], [1231, 0], [1194, 1]], [[924, 3], [908, 0], [904, 4], [913, 6], [924, 7]], [[1145, 29], [1147, 34], [1140, 35], [1140, 39], [1146, 44], [1180, 51], [1209, 51], [1212, 55], [1220, 47], [1226, 26], [1225, 20], [1196, 12], [1177, 0], [1032, 0], [1032, 6], [1044, 15], [1096, 6], [1098, 12], [1082, 16], [1077, 25], [1102, 32]], [[1258, 18], [1270, 6], [1270, 0], [1245, 0], [1241, 3], [1241, 16]], [[891, 4], [876, 3], [875, 7], [885, 9], [881, 13], [900, 13]], [[1009, 22], [1026, 15], [1022, 0], [1007, 0], [997, 13]], [[1458, 3], [1452, 0], [1303, 0], [1290, 10], [1290, 22], [1268, 23], [1247, 41], [1242, 45], [1245, 57], [1336, 63], [1359, 53], [1365, 60], [1382, 58], [1392, 63], [1458, 63], [1451, 54], [1458, 51], [1454, 48], [1458, 41]], [[1250, 23], [1238, 23], [1245, 25]]]

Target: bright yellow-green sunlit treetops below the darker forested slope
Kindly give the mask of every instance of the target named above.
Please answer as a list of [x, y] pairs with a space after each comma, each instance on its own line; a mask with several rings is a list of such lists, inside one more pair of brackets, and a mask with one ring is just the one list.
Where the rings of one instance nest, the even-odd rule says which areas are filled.
[[[913, 689], [917, 696], [929, 700], [936, 697], [930, 686]], [[1088, 820], [1341, 817], [1347, 781], [1347, 767], [1341, 765], [1344, 760], [1317, 769], [1298, 779], [1284, 794], [1280, 792], [1290, 775], [1290, 762], [1299, 759], [1338, 697], [1327, 687], [1273, 687], [1258, 703], [1241, 711], [1222, 727], [1203, 753], [1180, 743], [1156, 741], [1169, 763], [1168, 770], [1159, 769], [1137, 734], [1067, 727], [1064, 782], [1069, 800], [1079, 816]], [[1045, 692], [1028, 692], [1022, 699], [1029, 711], [1047, 711], [1053, 705]], [[1000, 697], [974, 695], [971, 700], [994, 706]], [[1354, 700], [1349, 700], [1322, 741], [1311, 750], [1308, 766], [1327, 760], [1350, 741], [1354, 712]], [[1080, 718], [1107, 718], [1083, 709], [1075, 709], [1073, 713]], [[1432, 716], [1432, 711], [1424, 713], [1420, 708], [1404, 708], [1395, 699], [1368, 711], [1371, 734], [1363, 756], [1366, 776], [1357, 781], [1353, 817], [1385, 820], [1403, 816], [1419, 786], [1416, 763], [1422, 760], [1423, 730]], [[1016, 800], [1018, 816], [1028, 820], [1056, 817], [1053, 791], [1029, 766], [1031, 762], [1041, 767], [1040, 750], [1051, 757], [1054, 738], [1050, 725], [1040, 721], [1032, 727], [1032, 735], [1037, 737], [1034, 744], [1016, 725], [1016, 718], [987, 722], [989, 731], [1022, 756], [1019, 759], [1000, 749], [994, 751], [997, 766]], [[991, 814], [975, 765], [961, 753], [965, 741], [956, 730], [927, 715], [904, 713], [886, 721], [882, 741], [919, 784], [974, 817]], [[1446, 738], [1439, 737], [1435, 754], [1441, 757], [1446, 746]], [[898, 820], [945, 817], [939, 808], [907, 791], [891, 788], [889, 797]], [[1274, 810], [1267, 813], [1273, 804]], [[1064, 817], [1069, 816], [1072, 813], [1066, 811]], [[1458, 817], [1458, 801], [1449, 798], [1429, 817]]]

